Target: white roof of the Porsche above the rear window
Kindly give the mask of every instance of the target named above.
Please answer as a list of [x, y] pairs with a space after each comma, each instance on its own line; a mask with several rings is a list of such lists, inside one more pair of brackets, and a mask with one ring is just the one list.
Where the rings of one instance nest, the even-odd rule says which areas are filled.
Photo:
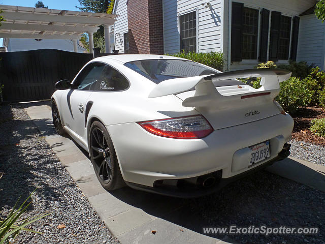
[[[187, 60], [185, 58], [180, 57], [174, 57], [174, 56], [168, 56], [168, 55], [155, 55], [155, 54], [118, 54], [118, 55], [108, 55], [108, 56], [102, 56], [100, 58], [107, 58], [107, 59], [114, 59], [121, 63], [127, 63], [127, 62], [133, 62], [137, 60], [145, 60], [145, 59], [182, 59]], [[94, 59], [94, 61], [97, 58]]]

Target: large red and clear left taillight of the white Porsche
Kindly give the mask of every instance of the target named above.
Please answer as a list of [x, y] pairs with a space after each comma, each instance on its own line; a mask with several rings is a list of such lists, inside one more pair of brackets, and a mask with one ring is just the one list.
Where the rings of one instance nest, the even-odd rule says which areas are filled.
[[150, 120], [138, 124], [152, 134], [177, 139], [202, 138], [213, 131], [202, 115]]

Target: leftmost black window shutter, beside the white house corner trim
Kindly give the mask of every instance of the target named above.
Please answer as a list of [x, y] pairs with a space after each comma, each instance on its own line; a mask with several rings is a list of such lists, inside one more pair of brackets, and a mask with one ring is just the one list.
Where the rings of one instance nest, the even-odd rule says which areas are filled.
[[243, 8], [244, 4], [232, 3], [231, 61], [242, 60]]

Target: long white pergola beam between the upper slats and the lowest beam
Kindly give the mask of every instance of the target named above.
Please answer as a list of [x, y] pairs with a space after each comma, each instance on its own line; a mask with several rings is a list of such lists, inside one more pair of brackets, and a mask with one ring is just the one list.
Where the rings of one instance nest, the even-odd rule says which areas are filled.
[[0, 29], [14, 29], [16, 31], [46, 31], [46, 32], [96, 32], [99, 27], [91, 26], [66, 26], [66, 25], [45, 25], [45, 24], [12, 24], [1, 23]]

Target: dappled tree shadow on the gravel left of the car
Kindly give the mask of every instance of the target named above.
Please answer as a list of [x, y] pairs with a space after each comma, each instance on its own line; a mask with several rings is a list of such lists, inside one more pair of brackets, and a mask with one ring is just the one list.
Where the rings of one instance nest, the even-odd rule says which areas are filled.
[[[48, 152], [49, 145], [43, 140], [44, 135], [54, 135], [55, 130], [47, 129], [40, 135], [24, 111], [13, 117], [11, 107], [27, 106], [30, 104], [5, 104], [0, 107], [0, 172], [4, 173], [0, 179], [1, 210], [4, 206], [12, 208], [19, 196], [22, 203], [36, 188], [37, 194], [47, 202], [59, 198], [55, 193], [58, 189], [53, 187], [51, 181], [45, 180], [48, 176], [55, 180], [59, 174], [58, 168], [49, 167], [58, 159], [52, 151]], [[34, 209], [34, 206], [30, 204], [29, 209]]]

